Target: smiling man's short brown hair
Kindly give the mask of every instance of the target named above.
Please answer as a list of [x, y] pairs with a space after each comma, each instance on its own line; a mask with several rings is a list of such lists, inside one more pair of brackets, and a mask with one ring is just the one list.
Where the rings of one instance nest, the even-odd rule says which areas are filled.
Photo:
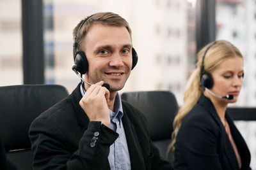
[[[79, 32], [77, 32], [83, 22], [84, 24], [82, 25]], [[75, 43], [77, 43], [77, 50], [81, 50], [83, 38], [86, 36], [88, 29], [92, 26], [92, 24], [95, 23], [116, 27], [124, 26], [132, 38], [132, 31], [128, 22], [124, 18], [120, 17], [120, 15], [112, 12], [95, 13], [81, 20], [73, 30], [73, 39]]]

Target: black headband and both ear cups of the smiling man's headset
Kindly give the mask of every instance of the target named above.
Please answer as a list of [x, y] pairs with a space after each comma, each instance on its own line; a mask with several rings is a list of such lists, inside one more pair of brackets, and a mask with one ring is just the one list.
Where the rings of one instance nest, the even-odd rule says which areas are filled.
[[[91, 15], [90, 17], [92, 17], [93, 15]], [[76, 38], [81, 27], [90, 17], [87, 17], [77, 29], [76, 36], [74, 38], [74, 43], [73, 43], [73, 57], [74, 57], [75, 65], [72, 67], [72, 69], [74, 71], [75, 70], [78, 71], [80, 74], [85, 74], [88, 71], [88, 60], [86, 59], [86, 55], [83, 51], [77, 52]], [[132, 69], [136, 66], [137, 62], [138, 62], [138, 55], [135, 49], [132, 47]]]

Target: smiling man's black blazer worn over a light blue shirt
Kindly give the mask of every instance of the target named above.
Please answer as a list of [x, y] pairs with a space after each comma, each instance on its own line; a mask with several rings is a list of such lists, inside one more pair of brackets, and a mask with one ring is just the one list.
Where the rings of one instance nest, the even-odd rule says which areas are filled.
[[[29, 138], [35, 169], [110, 169], [109, 146], [118, 134], [100, 122], [89, 122], [79, 106], [81, 97], [79, 84], [70, 96], [31, 124]], [[125, 101], [122, 106], [131, 169], [172, 169], [150, 140], [145, 116]], [[99, 134], [93, 141], [95, 132]]]

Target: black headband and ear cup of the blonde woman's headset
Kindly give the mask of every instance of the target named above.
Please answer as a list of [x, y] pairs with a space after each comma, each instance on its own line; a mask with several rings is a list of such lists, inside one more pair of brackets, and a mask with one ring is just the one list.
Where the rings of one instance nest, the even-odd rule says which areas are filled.
[[213, 45], [215, 45], [218, 41], [214, 41], [211, 45], [209, 45], [205, 52], [204, 52], [204, 55], [202, 57], [202, 63], [201, 63], [201, 66], [200, 66], [200, 87], [206, 87], [207, 89], [211, 89], [212, 86], [213, 86], [213, 79], [212, 79], [212, 75], [211, 73], [204, 71], [204, 58], [205, 58], [205, 55], [207, 53], [207, 51], [209, 50], [209, 48], [211, 48]]

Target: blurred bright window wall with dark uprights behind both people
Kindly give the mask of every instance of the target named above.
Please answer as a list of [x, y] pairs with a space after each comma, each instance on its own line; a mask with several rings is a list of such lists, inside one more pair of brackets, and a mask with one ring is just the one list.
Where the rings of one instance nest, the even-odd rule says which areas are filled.
[[[1, 0], [0, 86], [55, 83], [71, 92], [79, 82], [72, 29], [99, 11], [118, 13], [132, 29], [139, 60], [121, 92], [170, 90], [182, 104], [196, 52], [226, 39], [244, 55], [243, 89], [230, 106], [256, 107], [255, 0]], [[256, 169], [256, 122], [236, 124]]]

